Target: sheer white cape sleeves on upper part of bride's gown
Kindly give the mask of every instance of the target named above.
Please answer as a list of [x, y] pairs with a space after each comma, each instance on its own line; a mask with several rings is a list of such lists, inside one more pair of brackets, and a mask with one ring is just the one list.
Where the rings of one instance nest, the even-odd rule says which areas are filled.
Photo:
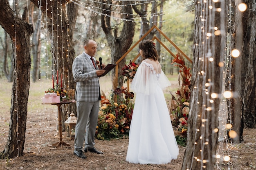
[[170, 86], [171, 83], [164, 72], [161, 72], [159, 80], [157, 80], [157, 75], [152, 65], [142, 61], [132, 80], [132, 91], [149, 95], [155, 93], [157, 85], [160, 85], [161, 88], [165, 88]]

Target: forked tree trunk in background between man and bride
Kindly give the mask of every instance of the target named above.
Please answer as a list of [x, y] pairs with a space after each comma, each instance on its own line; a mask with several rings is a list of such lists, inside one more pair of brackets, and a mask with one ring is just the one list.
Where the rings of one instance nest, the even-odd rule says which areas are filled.
[[[105, 1], [103, 1], [105, 2]], [[129, 1], [121, 1], [122, 5], [128, 5], [131, 2]], [[112, 4], [111, 0], [108, 0], [108, 4]], [[124, 15], [121, 16], [121, 18], [124, 18], [123, 21], [123, 27], [120, 32], [120, 35], [118, 36], [118, 30], [117, 28], [114, 28], [112, 30], [112, 25], [110, 22], [110, 17], [105, 15], [111, 15], [111, 5], [102, 5], [102, 9], [106, 9], [101, 11], [103, 15], [101, 15], [101, 27], [103, 29], [103, 32], [106, 35], [108, 45], [111, 48], [111, 59], [112, 63], [116, 63], [130, 48], [133, 40], [133, 36], [135, 33], [135, 23], [132, 22], [133, 15], [132, 15], [132, 7], [130, 5], [128, 6], [122, 6], [122, 13], [128, 13], [131, 15]], [[104, 15], [105, 14], [105, 15]], [[126, 63], [126, 57], [120, 61], [118, 64], [118, 77], [121, 76], [122, 68], [124, 67]], [[121, 76], [122, 77], [122, 76]], [[112, 71], [112, 80], [115, 78], [115, 69]], [[124, 83], [124, 78], [118, 78], [118, 85], [117, 87], [122, 87]], [[112, 86], [113, 87], [113, 86]]]

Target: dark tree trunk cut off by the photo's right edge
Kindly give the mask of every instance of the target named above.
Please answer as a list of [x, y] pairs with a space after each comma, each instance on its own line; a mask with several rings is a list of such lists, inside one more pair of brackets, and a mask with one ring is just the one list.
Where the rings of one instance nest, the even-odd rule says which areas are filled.
[[244, 51], [247, 50], [248, 55], [243, 59], [248, 61], [248, 65], [243, 94], [243, 120], [246, 127], [256, 128], [256, 1], [249, 0], [245, 3], [247, 4], [248, 20]]

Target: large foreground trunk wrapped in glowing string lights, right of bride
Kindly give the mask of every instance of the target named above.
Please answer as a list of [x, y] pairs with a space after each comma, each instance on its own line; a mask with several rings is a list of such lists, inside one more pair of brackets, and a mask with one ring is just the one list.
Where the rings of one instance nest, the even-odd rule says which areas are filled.
[[[211, 98], [212, 93], [220, 94], [222, 68], [218, 66], [225, 54], [224, 34], [214, 36], [213, 26], [226, 28], [225, 2], [195, 2], [194, 61], [191, 83], [191, 101], [188, 119], [188, 137], [182, 170], [213, 170], [218, 146], [218, 112], [220, 98]], [[221, 17], [220, 17], [221, 15]], [[207, 37], [207, 33], [212, 36]], [[213, 57], [210, 62], [209, 58]], [[210, 83], [210, 86], [206, 86]], [[210, 102], [212, 99], [214, 102]]]

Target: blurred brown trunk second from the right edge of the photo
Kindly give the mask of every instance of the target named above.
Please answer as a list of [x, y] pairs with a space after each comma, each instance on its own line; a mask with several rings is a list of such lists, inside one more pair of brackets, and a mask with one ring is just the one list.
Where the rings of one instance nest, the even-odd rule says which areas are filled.
[[[243, 96], [245, 94], [247, 68], [248, 68], [248, 56], [249, 56], [249, 36], [247, 32], [251, 29], [248, 26], [249, 22], [249, 10], [240, 12], [238, 10], [238, 4], [241, 2], [232, 1], [232, 7], [234, 7], [234, 16], [232, 16], [231, 27], [231, 50], [237, 49], [240, 51], [240, 55], [237, 58], [230, 57], [230, 68], [228, 71], [230, 75], [226, 76], [227, 91], [233, 92], [233, 97], [227, 99], [227, 106], [229, 108], [229, 115], [227, 123], [232, 125], [231, 130], [236, 131], [237, 136], [231, 139], [230, 142], [240, 143], [243, 141]], [[249, 2], [248, 2], [249, 3]], [[249, 80], [250, 81], [250, 80]], [[255, 108], [255, 107], [254, 107]], [[249, 109], [250, 110], [250, 109]]]

